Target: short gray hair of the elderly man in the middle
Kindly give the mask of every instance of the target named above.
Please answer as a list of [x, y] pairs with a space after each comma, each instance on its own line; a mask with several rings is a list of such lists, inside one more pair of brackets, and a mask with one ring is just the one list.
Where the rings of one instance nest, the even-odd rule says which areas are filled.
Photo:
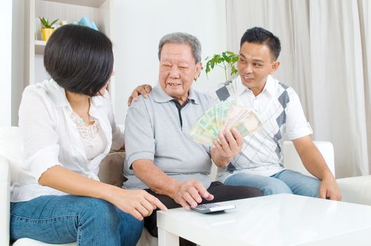
[[166, 34], [162, 39], [160, 40], [159, 44], [159, 60], [161, 56], [162, 47], [165, 44], [188, 44], [190, 48], [192, 49], [193, 57], [195, 58], [196, 63], [200, 63], [201, 61], [201, 43], [200, 40], [197, 39], [197, 37], [185, 33], [185, 32], [173, 32]]

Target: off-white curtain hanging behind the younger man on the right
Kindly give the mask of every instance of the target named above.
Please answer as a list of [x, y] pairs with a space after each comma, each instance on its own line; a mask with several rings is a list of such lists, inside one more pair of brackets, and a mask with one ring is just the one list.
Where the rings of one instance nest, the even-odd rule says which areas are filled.
[[370, 174], [371, 1], [226, 0], [227, 47], [251, 27], [280, 38], [275, 78], [292, 86], [317, 141], [334, 145], [337, 178]]

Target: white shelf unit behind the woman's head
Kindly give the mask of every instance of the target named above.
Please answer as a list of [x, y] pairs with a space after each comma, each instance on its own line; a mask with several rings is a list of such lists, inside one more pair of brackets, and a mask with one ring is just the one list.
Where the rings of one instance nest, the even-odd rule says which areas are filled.
[[[86, 15], [98, 26], [98, 30], [112, 39], [113, 0], [26, 0], [25, 1], [25, 85], [41, 82], [49, 75], [44, 70], [43, 54], [46, 41], [35, 40], [36, 21], [39, 17], [48, 20], [79, 21]], [[41, 39], [37, 33], [37, 39]]]

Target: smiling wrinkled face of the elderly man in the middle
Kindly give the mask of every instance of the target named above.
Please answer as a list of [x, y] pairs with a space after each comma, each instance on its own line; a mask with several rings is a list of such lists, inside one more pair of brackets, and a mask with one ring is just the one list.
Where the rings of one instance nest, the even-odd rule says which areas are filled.
[[188, 44], [165, 44], [160, 56], [159, 81], [162, 89], [179, 103], [184, 103], [193, 80], [200, 75], [201, 66], [201, 63], [195, 63]]

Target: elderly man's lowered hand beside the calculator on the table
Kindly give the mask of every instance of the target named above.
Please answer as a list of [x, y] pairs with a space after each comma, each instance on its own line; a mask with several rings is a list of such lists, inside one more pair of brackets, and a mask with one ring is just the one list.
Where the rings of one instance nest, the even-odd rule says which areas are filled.
[[213, 200], [214, 195], [208, 193], [200, 181], [189, 180], [183, 183], [179, 182], [178, 186], [174, 189], [171, 198], [188, 210], [190, 209], [190, 206], [197, 207], [197, 205], [202, 202], [202, 198]]

